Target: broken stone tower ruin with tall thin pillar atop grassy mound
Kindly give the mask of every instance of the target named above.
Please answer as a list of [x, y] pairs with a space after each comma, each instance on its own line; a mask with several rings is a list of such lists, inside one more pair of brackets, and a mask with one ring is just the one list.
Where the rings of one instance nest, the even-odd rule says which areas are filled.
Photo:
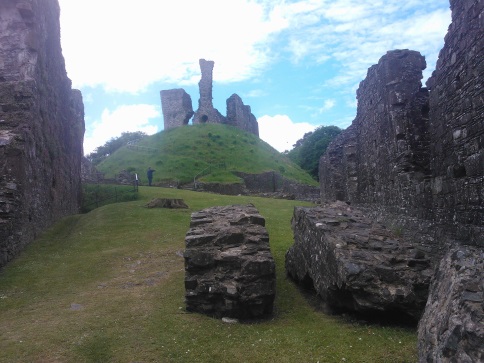
[[227, 99], [226, 117], [213, 107], [212, 84], [215, 62], [200, 59], [199, 64], [202, 77], [198, 83], [200, 99], [195, 113], [190, 95], [183, 89], [160, 92], [165, 130], [187, 125], [193, 115], [193, 124], [226, 124], [259, 136], [257, 119], [252, 114], [250, 106], [244, 105], [237, 94], [234, 93]]

